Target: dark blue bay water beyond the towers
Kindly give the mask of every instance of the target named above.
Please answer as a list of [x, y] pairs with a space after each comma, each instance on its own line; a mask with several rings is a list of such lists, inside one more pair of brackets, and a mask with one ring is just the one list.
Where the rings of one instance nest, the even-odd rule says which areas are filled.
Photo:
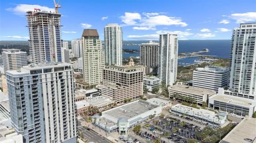
[[[156, 41], [158, 42], [158, 41]], [[148, 43], [148, 41], [124, 41], [124, 43]], [[221, 58], [230, 57], [230, 40], [179, 40], [179, 53], [187, 53], [193, 51], [202, 51], [204, 48], [210, 50], [210, 52], [203, 53], [204, 55], [214, 55]], [[124, 49], [137, 49], [140, 51], [139, 45], [124, 45]], [[124, 58], [138, 57], [140, 53], [128, 53], [123, 54]], [[188, 57], [178, 60], [179, 65], [193, 64], [194, 60], [198, 60], [200, 57]]]

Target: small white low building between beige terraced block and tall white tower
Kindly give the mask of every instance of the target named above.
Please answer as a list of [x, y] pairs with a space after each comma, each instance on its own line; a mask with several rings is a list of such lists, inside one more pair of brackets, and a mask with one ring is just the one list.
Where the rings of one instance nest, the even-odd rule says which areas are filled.
[[161, 81], [159, 78], [154, 76], [143, 77], [143, 88], [147, 88], [149, 92], [152, 92], [154, 88], [160, 88]]

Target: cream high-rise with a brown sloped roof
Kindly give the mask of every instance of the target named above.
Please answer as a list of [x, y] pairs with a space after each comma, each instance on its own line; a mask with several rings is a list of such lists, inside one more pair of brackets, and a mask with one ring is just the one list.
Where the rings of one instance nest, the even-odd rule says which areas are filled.
[[90, 85], [98, 85], [102, 81], [104, 68], [104, 52], [96, 29], [84, 29], [83, 45], [83, 78]]

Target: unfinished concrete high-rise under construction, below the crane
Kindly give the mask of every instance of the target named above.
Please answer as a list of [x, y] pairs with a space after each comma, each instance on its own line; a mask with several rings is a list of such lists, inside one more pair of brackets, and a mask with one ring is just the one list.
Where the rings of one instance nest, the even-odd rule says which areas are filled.
[[61, 14], [28, 11], [29, 55], [33, 63], [61, 61]]

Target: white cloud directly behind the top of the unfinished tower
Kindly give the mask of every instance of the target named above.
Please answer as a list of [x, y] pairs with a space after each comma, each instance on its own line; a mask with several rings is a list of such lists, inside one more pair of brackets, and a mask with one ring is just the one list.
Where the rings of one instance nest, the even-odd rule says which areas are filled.
[[26, 14], [27, 11], [34, 11], [34, 9], [40, 9], [41, 11], [55, 12], [54, 9], [49, 8], [47, 6], [30, 5], [30, 4], [18, 4], [17, 6], [6, 9], [6, 10], [12, 11], [13, 13], [18, 15], [24, 15]]

